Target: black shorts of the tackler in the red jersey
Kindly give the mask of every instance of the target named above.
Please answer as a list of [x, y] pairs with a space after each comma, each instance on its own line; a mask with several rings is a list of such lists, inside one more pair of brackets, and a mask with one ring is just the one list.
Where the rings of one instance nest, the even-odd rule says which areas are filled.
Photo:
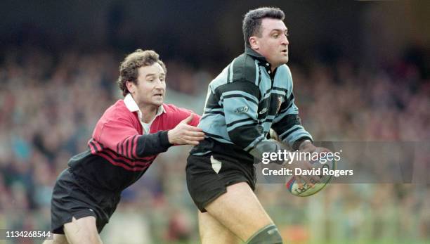
[[64, 234], [63, 225], [72, 217], [96, 217], [98, 233], [109, 222], [117, 208], [120, 193], [102, 192], [78, 184], [70, 168], [61, 172], [53, 188], [51, 200], [51, 231]]

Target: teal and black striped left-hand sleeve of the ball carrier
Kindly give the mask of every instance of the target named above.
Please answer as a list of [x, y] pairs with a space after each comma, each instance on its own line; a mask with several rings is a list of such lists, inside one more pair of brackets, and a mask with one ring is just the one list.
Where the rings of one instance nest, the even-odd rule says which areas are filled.
[[228, 136], [235, 145], [258, 160], [263, 152], [282, 148], [280, 143], [266, 139], [258, 127], [259, 86], [247, 81], [232, 82], [223, 85], [219, 96]]

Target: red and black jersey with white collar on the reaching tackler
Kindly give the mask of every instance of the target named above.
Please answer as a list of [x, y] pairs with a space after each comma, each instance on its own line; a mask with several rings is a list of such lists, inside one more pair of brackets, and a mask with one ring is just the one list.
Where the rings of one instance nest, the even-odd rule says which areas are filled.
[[[127, 108], [123, 100], [110, 106], [98, 120], [89, 149], [68, 162], [80, 183], [105, 191], [120, 192], [137, 181], [159, 153], [172, 146], [167, 131], [190, 116], [192, 111], [163, 104], [163, 113], [155, 117], [150, 133], [145, 134], [138, 112]], [[195, 115], [190, 125], [197, 126]]]

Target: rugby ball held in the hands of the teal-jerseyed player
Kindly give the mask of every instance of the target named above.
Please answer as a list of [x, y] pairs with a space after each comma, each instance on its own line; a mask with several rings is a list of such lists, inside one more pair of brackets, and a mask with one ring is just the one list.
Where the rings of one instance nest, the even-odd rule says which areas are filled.
[[[318, 191], [323, 190], [323, 188], [332, 179], [331, 172], [337, 169], [336, 160], [333, 159], [329, 161], [325, 157], [321, 157], [319, 158], [319, 160], [311, 161], [311, 164], [314, 166], [314, 168], [312, 171], [308, 171], [308, 173], [319, 175], [320, 183], [314, 184], [313, 187], [311, 187], [307, 183], [304, 183], [301, 187], [299, 187], [299, 184], [296, 182], [296, 178], [292, 176], [290, 179], [287, 179], [287, 183], [285, 184], [288, 191], [292, 193], [292, 195], [296, 195], [299, 197], [307, 197], [309, 195], [318, 193]], [[305, 174], [304, 172], [301, 173]]]

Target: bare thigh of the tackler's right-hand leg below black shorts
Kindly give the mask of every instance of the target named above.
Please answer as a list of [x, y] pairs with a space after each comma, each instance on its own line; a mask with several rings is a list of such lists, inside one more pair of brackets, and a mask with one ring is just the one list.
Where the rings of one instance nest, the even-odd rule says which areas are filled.
[[98, 235], [96, 218], [93, 216], [80, 219], [72, 218], [64, 224], [64, 233], [70, 244], [100, 244], [103, 243]]

